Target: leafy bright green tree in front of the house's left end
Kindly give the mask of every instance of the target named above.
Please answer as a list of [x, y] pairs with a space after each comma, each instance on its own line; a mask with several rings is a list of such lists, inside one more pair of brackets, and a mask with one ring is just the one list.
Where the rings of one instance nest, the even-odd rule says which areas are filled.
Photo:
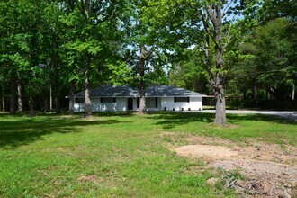
[[80, 64], [80, 75], [85, 79], [85, 117], [88, 117], [92, 115], [91, 74], [114, 52], [112, 45], [119, 31], [117, 16], [121, 1], [77, 0], [64, 5], [70, 12], [62, 19], [68, 30], [63, 46], [72, 56], [69, 60], [77, 59]]

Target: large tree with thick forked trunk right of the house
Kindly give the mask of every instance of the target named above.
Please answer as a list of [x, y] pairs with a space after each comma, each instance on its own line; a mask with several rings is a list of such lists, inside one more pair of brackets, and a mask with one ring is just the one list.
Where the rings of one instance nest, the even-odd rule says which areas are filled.
[[[210, 78], [213, 94], [216, 98], [215, 123], [224, 125], [226, 120], [226, 97], [224, 77], [228, 70], [225, 66], [225, 52], [229, 43], [237, 39], [234, 23], [238, 17], [248, 22], [248, 16], [257, 8], [257, 1], [213, 0], [213, 1], [151, 1], [151, 6], [159, 12], [151, 15], [155, 23], [168, 20], [175, 24], [164, 23], [163, 30], [167, 34], [184, 35], [179, 42], [187, 42], [199, 46], [204, 51], [205, 67]], [[182, 4], [182, 5], [181, 5]], [[183, 8], [179, 13], [179, 9]], [[177, 14], [176, 14], [177, 13]], [[202, 40], [203, 45], [202, 45]], [[172, 49], [175, 52], [175, 49]]]

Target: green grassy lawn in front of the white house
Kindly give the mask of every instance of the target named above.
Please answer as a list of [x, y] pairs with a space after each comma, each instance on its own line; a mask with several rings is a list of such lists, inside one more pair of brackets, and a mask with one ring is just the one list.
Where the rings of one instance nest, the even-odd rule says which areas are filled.
[[[0, 197], [233, 197], [218, 174], [166, 148], [164, 132], [297, 146], [296, 122], [254, 114], [0, 114]], [[186, 144], [186, 142], [178, 142]]]

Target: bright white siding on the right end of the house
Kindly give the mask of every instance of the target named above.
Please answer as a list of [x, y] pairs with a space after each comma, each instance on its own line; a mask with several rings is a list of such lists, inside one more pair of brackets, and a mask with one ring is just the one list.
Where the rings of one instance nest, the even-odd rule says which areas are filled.
[[174, 97], [163, 97], [161, 98], [161, 110], [166, 111], [184, 111], [187, 110], [202, 110], [202, 97], [190, 97], [189, 103], [187, 102], [176, 102]]

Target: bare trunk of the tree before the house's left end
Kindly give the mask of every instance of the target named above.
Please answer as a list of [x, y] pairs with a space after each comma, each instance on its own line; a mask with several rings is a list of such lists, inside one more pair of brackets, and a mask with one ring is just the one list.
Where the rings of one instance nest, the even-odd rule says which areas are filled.
[[89, 88], [89, 81], [90, 81], [90, 63], [91, 58], [89, 54], [86, 54], [85, 59], [85, 117], [92, 116], [92, 102], [90, 99], [90, 88]]

